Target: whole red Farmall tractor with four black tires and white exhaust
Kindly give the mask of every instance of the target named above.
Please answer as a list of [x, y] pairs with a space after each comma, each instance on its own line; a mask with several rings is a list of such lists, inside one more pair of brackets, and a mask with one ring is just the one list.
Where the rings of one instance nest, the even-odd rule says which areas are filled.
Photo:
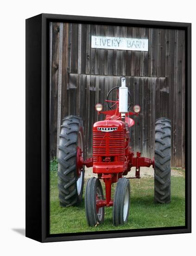
[[[114, 93], [115, 92], [115, 93]], [[116, 99], [109, 100], [111, 95]], [[84, 159], [84, 133], [82, 119], [69, 115], [63, 119], [58, 146], [58, 189], [60, 205], [78, 205], [82, 201], [84, 167], [93, 167], [97, 178], [90, 178], [86, 184], [85, 212], [89, 226], [104, 222], [104, 208], [113, 206], [113, 224], [124, 224], [128, 220], [130, 207], [130, 183], [126, 175], [132, 167], [135, 177], [140, 178], [140, 167], [154, 168], [154, 200], [159, 203], [171, 201], [171, 121], [159, 118], [155, 123], [155, 151], [152, 159], [134, 153], [130, 147], [130, 128], [137, 116], [139, 105], [129, 111], [130, 93], [125, 78], [121, 87], [112, 88], [107, 94], [110, 110], [102, 112], [102, 105], [96, 104], [98, 114], [104, 121], [93, 125], [93, 157]], [[144, 110], [145, 111], [145, 110]], [[86, 141], [88, 138], [86, 138]], [[136, 144], [137, 141], [134, 141]], [[105, 196], [101, 182], [105, 183]], [[116, 183], [114, 198], [111, 187]]]

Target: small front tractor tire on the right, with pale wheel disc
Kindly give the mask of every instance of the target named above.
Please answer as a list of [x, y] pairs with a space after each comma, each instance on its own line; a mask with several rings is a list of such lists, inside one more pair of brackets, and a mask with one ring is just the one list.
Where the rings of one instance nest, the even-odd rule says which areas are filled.
[[113, 224], [122, 225], [128, 221], [130, 207], [130, 183], [126, 178], [120, 178], [114, 193]]

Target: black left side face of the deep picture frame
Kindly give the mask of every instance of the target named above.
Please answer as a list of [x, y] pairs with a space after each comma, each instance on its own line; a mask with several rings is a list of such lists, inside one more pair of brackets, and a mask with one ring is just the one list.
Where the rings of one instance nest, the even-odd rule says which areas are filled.
[[25, 22], [25, 236], [39, 242], [42, 241], [43, 229], [41, 21], [42, 15], [38, 15]]

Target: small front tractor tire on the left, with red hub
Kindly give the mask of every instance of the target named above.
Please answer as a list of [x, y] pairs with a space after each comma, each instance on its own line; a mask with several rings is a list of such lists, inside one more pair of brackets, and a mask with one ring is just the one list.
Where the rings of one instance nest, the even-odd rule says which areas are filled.
[[97, 208], [97, 201], [103, 199], [103, 189], [100, 180], [95, 177], [90, 178], [85, 192], [85, 212], [90, 227], [104, 222], [105, 209], [104, 207]]

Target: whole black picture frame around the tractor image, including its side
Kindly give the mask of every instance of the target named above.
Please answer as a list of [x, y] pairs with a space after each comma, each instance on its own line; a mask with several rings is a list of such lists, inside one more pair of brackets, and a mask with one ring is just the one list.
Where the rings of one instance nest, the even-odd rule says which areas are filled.
[[[49, 234], [49, 22], [78, 22], [185, 30], [185, 207], [184, 227]], [[57, 242], [191, 232], [191, 24], [59, 14], [39, 14], [26, 20], [26, 236]]]

